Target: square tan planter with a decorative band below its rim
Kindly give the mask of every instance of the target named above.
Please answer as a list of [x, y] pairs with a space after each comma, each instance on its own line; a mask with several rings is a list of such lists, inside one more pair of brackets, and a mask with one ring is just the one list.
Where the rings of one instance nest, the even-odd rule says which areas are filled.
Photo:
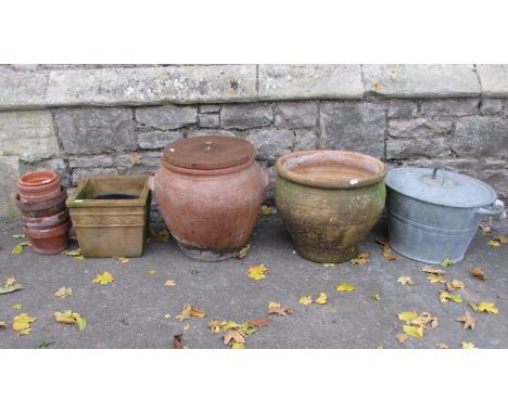
[[150, 220], [149, 176], [90, 176], [67, 199], [85, 257], [139, 257]]

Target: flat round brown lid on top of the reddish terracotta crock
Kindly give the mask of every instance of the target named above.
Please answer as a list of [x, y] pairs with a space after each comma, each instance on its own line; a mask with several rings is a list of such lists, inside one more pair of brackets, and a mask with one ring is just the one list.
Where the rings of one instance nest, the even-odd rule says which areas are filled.
[[164, 147], [166, 163], [191, 169], [213, 170], [246, 163], [254, 155], [254, 145], [240, 138], [203, 135], [182, 138]]

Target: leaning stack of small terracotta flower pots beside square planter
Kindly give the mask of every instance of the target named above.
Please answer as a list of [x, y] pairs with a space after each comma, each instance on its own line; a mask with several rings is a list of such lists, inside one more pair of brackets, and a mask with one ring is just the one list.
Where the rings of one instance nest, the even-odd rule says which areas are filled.
[[17, 179], [16, 205], [25, 235], [36, 253], [52, 255], [68, 244], [71, 220], [65, 207], [67, 191], [53, 171], [26, 173]]

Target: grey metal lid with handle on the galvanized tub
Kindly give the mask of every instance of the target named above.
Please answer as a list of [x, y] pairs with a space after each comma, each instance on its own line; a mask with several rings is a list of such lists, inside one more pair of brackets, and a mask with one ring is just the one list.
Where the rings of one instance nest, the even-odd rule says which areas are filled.
[[408, 197], [447, 207], [484, 207], [496, 200], [496, 192], [484, 182], [437, 168], [390, 170], [386, 186]]

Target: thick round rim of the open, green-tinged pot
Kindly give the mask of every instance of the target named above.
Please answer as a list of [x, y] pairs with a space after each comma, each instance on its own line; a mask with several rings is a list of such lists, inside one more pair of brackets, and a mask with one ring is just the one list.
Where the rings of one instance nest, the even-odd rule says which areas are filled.
[[[319, 176], [295, 172], [300, 166], [345, 165], [359, 168], [363, 173], [326, 177], [326, 168]], [[381, 160], [361, 153], [335, 150], [299, 151], [281, 156], [276, 163], [277, 173], [283, 179], [317, 189], [358, 189], [377, 184], [384, 179], [388, 167]], [[325, 177], [323, 177], [325, 176]]]

